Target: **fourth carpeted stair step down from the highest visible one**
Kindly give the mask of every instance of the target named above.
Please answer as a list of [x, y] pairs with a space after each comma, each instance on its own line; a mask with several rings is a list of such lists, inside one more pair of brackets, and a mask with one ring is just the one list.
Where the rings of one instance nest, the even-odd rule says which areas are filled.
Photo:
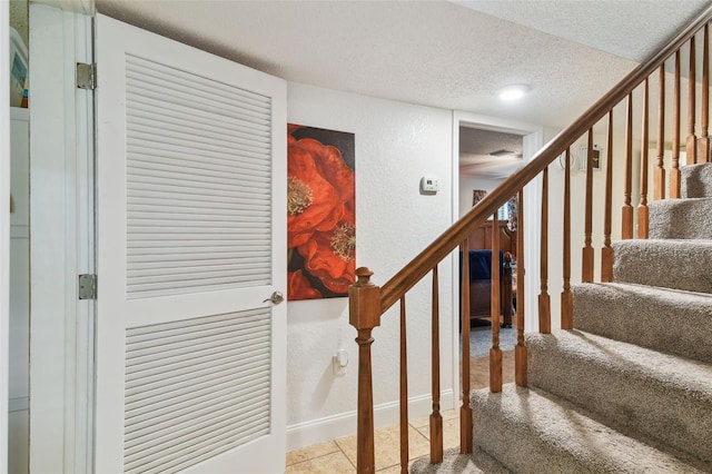
[[712, 295], [619, 283], [572, 290], [576, 329], [712, 364]]

